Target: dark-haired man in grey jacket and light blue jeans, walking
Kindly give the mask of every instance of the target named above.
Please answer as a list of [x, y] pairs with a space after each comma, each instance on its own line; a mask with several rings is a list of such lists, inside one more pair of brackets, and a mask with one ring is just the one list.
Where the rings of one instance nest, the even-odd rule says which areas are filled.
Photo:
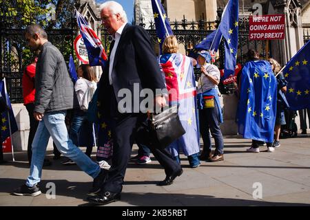
[[72, 109], [77, 102], [74, 101], [74, 85], [63, 55], [48, 41], [48, 35], [40, 25], [29, 25], [25, 30], [25, 39], [30, 50], [41, 50], [36, 69], [34, 100], [34, 118], [39, 121], [39, 126], [32, 142], [30, 175], [23, 186], [14, 190], [14, 195], [41, 194], [37, 184], [41, 180], [50, 137], [63, 155], [72, 159], [85, 173], [94, 178], [94, 184], [101, 183], [103, 172], [99, 164], [93, 162], [72, 143], [65, 126], [66, 110]]

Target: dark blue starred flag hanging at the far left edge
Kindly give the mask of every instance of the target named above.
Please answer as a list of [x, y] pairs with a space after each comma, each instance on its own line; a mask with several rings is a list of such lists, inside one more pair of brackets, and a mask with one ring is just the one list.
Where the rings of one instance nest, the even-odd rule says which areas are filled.
[[[1, 80], [0, 82], [0, 91], [1, 91], [1, 96], [4, 98], [6, 97], [8, 103], [8, 107], [10, 107], [9, 110], [9, 115], [10, 115], [10, 126], [11, 126], [11, 133], [13, 134], [14, 132], [18, 131], [17, 127], [17, 122], [14, 118], [14, 113], [12, 110], [10, 98], [4, 91], [4, 82]], [[10, 137], [10, 128], [9, 128], [9, 120], [8, 120], [8, 111], [4, 111], [1, 113], [1, 143], [4, 142], [8, 137]]]

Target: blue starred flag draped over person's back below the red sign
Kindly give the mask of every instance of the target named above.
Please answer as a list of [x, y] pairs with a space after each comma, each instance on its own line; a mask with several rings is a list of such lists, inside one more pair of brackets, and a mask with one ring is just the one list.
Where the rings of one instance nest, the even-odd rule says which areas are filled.
[[273, 142], [276, 122], [277, 81], [267, 61], [250, 61], [241, 73], [238, 105], [239, 133], [243, 137]]

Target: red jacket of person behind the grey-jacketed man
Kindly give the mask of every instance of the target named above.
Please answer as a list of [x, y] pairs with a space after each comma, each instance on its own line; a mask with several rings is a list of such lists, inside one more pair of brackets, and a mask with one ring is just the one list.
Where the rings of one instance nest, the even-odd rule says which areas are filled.
[[32, 63], [23, 72], [23, 104], [34, 103], [34, 76], [36, 75], [36, 63]]

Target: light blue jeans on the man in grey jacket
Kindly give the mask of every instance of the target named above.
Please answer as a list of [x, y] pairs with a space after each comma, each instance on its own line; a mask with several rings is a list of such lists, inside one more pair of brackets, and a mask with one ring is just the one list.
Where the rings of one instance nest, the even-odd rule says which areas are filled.
[[70, 140], [67, 127], [65, 126], [65, 113], [66, 111], [45, 113], [43, 119], [39, 122], [32, 142], [32, 161], [30, 175], [26, 181], [27, 186], [32, 187], [41, 180], [43, 161], [50, 137], [52, 137], [58, 150], [65, 157], [69, 157], [76, 162], [81, 170], [93, 178], [99, 175], [101, 170], [99, 165], [93, 162], [90, 157], [87, 157]]

